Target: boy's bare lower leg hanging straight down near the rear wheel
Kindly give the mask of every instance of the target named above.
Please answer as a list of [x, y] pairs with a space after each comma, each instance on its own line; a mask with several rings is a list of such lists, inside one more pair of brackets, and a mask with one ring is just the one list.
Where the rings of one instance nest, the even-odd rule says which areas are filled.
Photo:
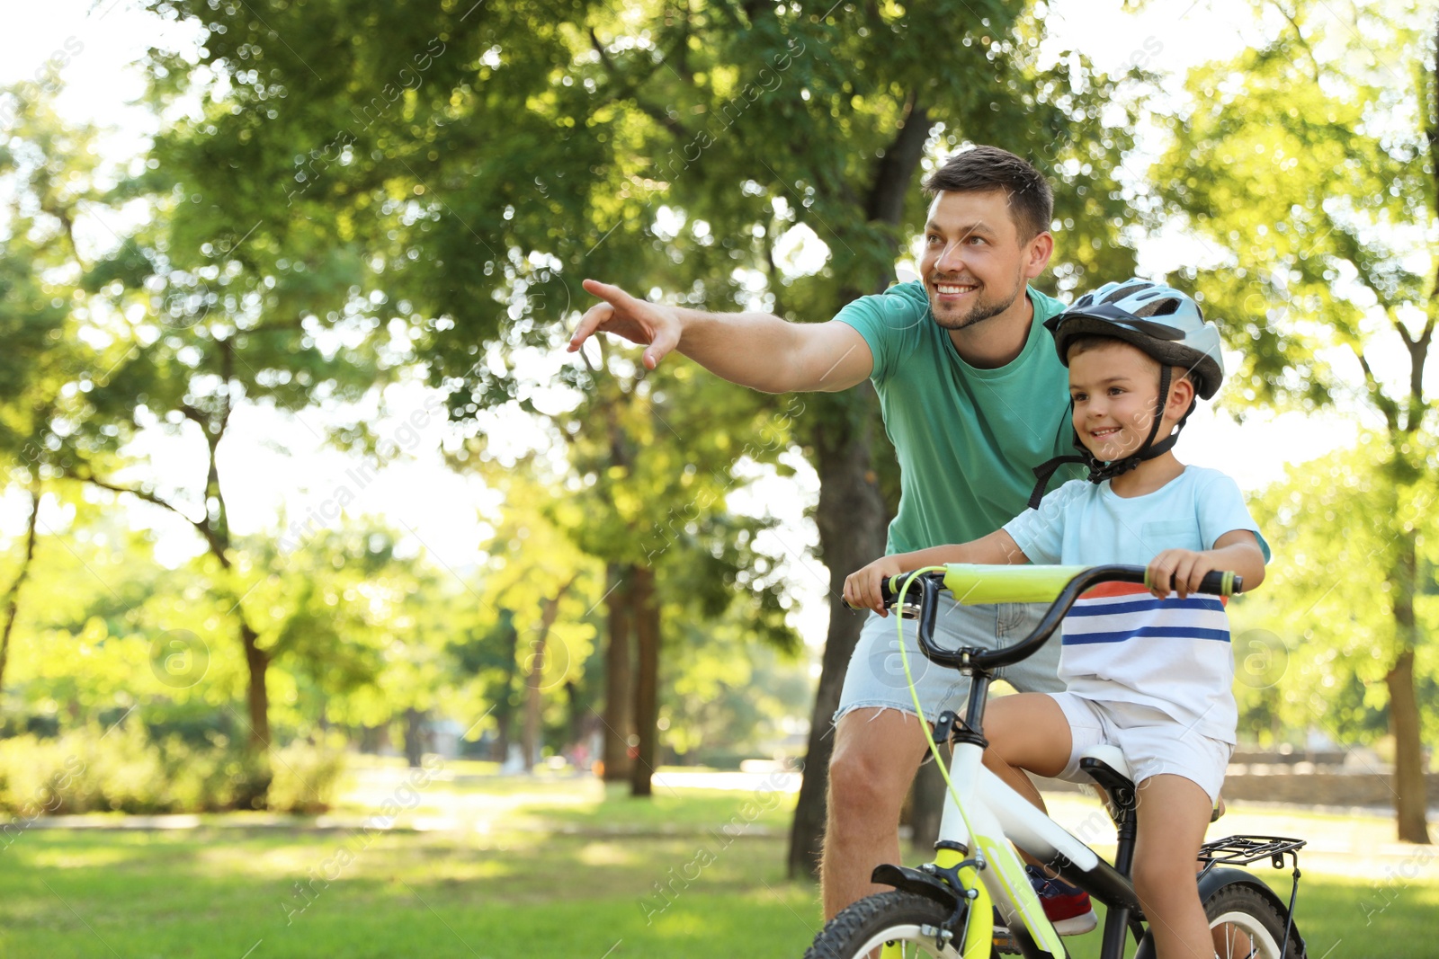
[[1199, 901], [1194, 860], [1213, 809], [1193, 779], [1160, 774], [1137, 784], [1138, 837], [1134, 891], [1164, 959], [1213, 959], [1215, 943]]

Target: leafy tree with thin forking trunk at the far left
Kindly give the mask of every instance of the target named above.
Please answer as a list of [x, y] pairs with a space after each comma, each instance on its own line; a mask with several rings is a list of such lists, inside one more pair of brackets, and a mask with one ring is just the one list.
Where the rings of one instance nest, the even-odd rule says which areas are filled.
[[[236, 227], [230, 211], [207, 203], [194, 184], [171, 178], [171, 170], [183, 168], [141, 173], [105, 191], [88, 150], [94, 134], [59, 125], [43, 104], [22, 106], [20, 135], [6, 160], [20, 184], [22, 211], [33, 211], [22, 223], [30, 227], [26, 243], [36, 244], [29, 269], [50, 286], [60, 277], [66, 285], [50, 292], [20, 342], [45, 334], [49, 345], [53, 335], [45, 325], [63, 322], [72, 344], [36, 364], [27, 400], [14, 390], [22, 405], [29, 403], [16, 413], [29, 417], [24, 449], [35, 450], [36, 476], [49, 470], [158, 506], [196, 531], [245, 651], [248, 725], [259, 752], [271, 742], [265, 680], [273, 653], [248, 605], [255, 577], [245, 577], [242, 543], [230, 531], [220, 447], [246, 407], [296, 413], [383, 385], [384, 351], [344, 344], [347, 331], [370, 322], [363, 308], [351, 302], [324, 319], [308, 309], [315, 290], [348, 289], [353, 259], [342, 247], [315, 259], [292, 249], [288, 269], [255, 269], [249, 253], [272, 239]], [[121, 203], [148, 207], [151, 219], [117, 237], [118, 246], [85, 256], [75, 224]], [[17, 247], [26, 252], [23, 243]], [[79, 342], [101, 345], [79, 362], [69, 355]], [[199, 476], [160, 476], [134, 456], [130, 444], [145, 431], [193, 443], [201, 451]], [[354, 436], [367, 434], [360, 428]]]

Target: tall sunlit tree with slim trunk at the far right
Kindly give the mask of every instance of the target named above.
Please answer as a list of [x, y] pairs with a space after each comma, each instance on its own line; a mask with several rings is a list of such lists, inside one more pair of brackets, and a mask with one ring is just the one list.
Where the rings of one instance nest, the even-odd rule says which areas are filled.
[[[1439, 60], [1425, 66], [1433, 43], [1413, 6], [1335, 13], [1284, 0], [1256, 10], [1272, 42], [1190, 73], [1193, 108], [1174, 118], [1174, 144], [1151, 175], [1170, 208], [1213, 243], [1215, 263], [1186, 276], [1242, 351], [1226, 397], [1240, 408], [1353, 410], [1381, 424], [1376, 470], [1396, 499], [1373, 513], [1381, 533], [1368, 562], [1386, 588], [1367, 598], [1393, 624], [1376, 638], [1399, 837], [1427, 843], [1415, 692], [1425, 523], [1412, 497], [1433, 469], [1426, 371], [1439, 280], [1433, 257], [1420, 266], [1412, 252], [1439, 216]], [[1311, 588], [1322, 595], [1331, 585]]]

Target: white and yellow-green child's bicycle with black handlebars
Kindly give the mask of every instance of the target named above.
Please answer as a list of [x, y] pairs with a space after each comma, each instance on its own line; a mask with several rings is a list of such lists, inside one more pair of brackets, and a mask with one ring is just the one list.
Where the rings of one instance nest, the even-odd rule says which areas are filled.
[[[955, 564], [902, 574], [885, 584], [885, 605], [898, 605], [902, 618], [918, 620], [917, 633], [924, 656], [937, 666], [958, 669], [971, 677], [963, 720], [953, 710], [944, 710], [932, 735], [928, 725], [921, 723], [948, 786], [935, 858], [920, 868], [894, 864], [876, 867], [871, 881], [891, 886], [892, 890], [875, 893], [842, 910], [819, 932], [804, 959], [853, 959], [871, 955], [881, 959], [921, 955], [935, 959], [986, 959], [999, 952], [1017, 952], [1029, 959], [1066, 956], [1059, 933], [1045, 916], [1043, 906], [1029, 884], [1025, 863], [1010, 843], [1107, 907], [1101, 959], [1122, 959], [1130, 936], [1134, 937], [1135, 959], [1154, 956], [1153, 937], [1130, 881], [1135, 843], [1135, 786], [1118, 748], [1089, 749], [1079, 763], [1104, 791], [1105, 809], [1117, 827], [1118, 844], [1112, 864], [1030, 805], [980, 762], [986, 746], [984, 705], [994, 671], [1039, 650], [1075, 600], [1102, 582], [1145, 584], [1145, 571], [1143, 566], [1121, 565]], [[918, 602], [907, 601], [914, 585], [920, 591]], [[1230, 572], [1212, 572], [1204, 577], [1200, 592], [1229, 595], [1240, 585], [1239, 577]], [[966, 604], [1050, 605], [1035, 631], [1014, 646], [999, 650], [944, 650], [934, 646], [935, 601], [941, 589]], [[899, 623], [898, 628], [902, 628]], [[899, 648], [904, 657], [904, 643]], [[907, 657], [904, 669], [909, 677]], [[915, 707], [918, 710], [918, 694]], [[943, 740], [953, 745], [948, 769], [937, 745]], [[1203, 868], [1197, 873], [1200, 900], [1210, 929], [1215, 930], [1216, 947], [1223, 943], [1223, 959], [1304, 959], [1304, 939], [1294, 924], [1299, 891], [1298, 850], [1304, 844], [1304, 840], [1272, 835], [1230, 835], [1203, 844]], [[1294, 886], [1288, 903], [1259, 877], [1233, 868], [1261, 860], [1268, 860], [1275, 868], [1284, 868], [1286, 860], [1292, 863]], [[996, 909], [1006, 923], [1007, 935], [1003, 937], [996, 937]]]

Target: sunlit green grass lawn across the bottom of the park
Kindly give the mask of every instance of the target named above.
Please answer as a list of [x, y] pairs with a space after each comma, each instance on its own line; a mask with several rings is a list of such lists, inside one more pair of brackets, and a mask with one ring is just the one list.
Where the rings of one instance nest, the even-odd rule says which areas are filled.
[[[450, 815], [448, 831], [29, 830], [0, 850], [0, 956], [797, 958], [813, 936], [816, 890], [783, 878], [790, 799], [488, 786], [426, 791], [414, 815]], [[1381, 820], [1232, 815], [1245, 830], [1271, 818], [1321, 847], [1298, 910], [1315, 959], [1435, 953], [1439, 860], [1386, 845]], [[1265, 871], [1288, 891], [1286, 874]], [[1075, 959], [1098, 949], [1098, 936], [1068, 942]]]

